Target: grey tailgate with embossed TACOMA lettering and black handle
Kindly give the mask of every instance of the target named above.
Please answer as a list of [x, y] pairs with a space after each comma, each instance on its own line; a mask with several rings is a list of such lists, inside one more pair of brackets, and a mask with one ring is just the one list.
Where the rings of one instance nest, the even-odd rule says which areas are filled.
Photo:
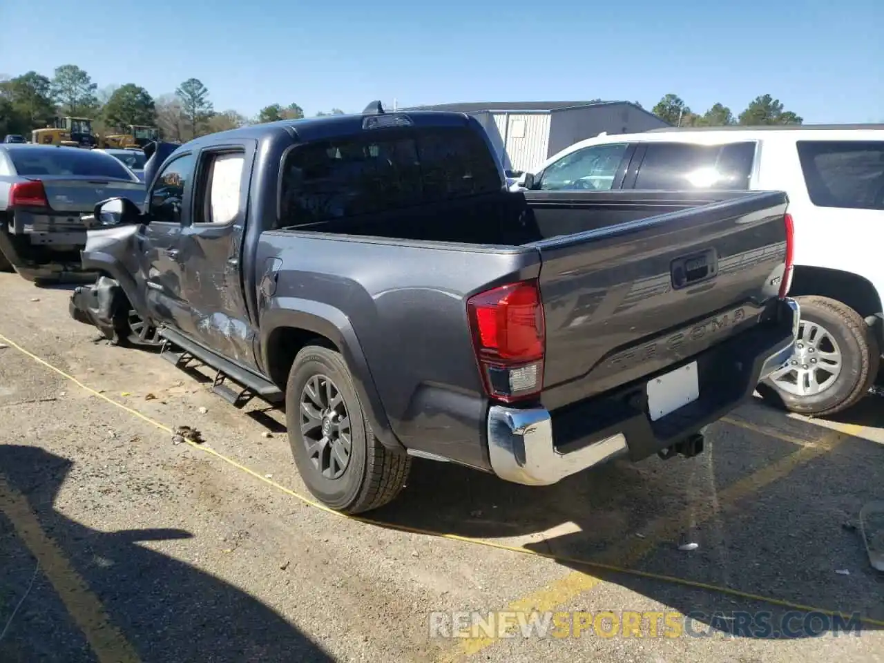
[[560, 408], [758, 324], [786, 257], [781, 192], [750, 194], [535, 243], [546, 352]]

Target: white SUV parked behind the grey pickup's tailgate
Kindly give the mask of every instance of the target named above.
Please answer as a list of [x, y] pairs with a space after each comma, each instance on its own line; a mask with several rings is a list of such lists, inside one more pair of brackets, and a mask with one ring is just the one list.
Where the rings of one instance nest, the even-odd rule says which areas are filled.
[[785, 191], [802, 325], [796, 354], [758, 391], [794, 412], [830, 415], [873, 384], [884, 348], [884, 126], [602, 135], [552, 156], [519, 187]]

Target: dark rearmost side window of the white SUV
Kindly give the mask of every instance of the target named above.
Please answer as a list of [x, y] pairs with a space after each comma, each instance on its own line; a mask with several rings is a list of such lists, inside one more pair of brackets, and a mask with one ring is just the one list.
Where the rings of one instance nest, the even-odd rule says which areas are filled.
[[817, 207], [884, 210], [884, 141], [797, 141]]

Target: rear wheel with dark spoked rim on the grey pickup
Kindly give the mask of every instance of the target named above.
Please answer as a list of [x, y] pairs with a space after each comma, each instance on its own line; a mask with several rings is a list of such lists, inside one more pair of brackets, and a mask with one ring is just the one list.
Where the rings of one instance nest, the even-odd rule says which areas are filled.
[[[322, 467], [325, 451], [313, 458], [308, 451], [308, 443], [313, 436], [321, 434], [320, 430], [323, 433], [322, 438], [326, 438], [324, 433], [329, 431], [329, 427], [325, 424], [325, 417], [322, 425], [317, 426], [316, 418], [303, 414], [301, 409], [302, 398], [309, 399], [309, 393], [305, 392], [307, 385], [315, 387], [317, 383], [311, 382], [313, 380], [324, 385], [322, 378], [331, 382], [331, 392], [339, 394], [343, 401], [349, 423], [347, 429], [350, 442], [349, 456], [344, 468], [339, 463], [332, 463], [329, 451], [331, 467], [325, 470], [325, 474]], [[316, 388], [313, 392], [316, 392]], [[311, 412], [316, 414], [324, 411], [313, 407], [315, 402], [310, 400], [308, 403]], [[340, 405], [337, 407], [340, 408]], [[312, 426], [307, 434], [301, 429], [302, 423]], [[337, 352], [326, 347], [309, 346], [295, 357], [286, 385], [286, 426], [294, 463], [301, 478], [309, 491], [326, 507], [347, 514], [370, 511], [383, 507], [404, 487], [411, 468], [411, 458], [405, 453], [390, 451], [371, 432], [354, 389], [353, 379]], [[333, 435], [333, 432], [328, 435]], [[323, 450], [331, 449], [331, 444], [319, 447]], [[341, 474], [333, 476], [336, 472]]]

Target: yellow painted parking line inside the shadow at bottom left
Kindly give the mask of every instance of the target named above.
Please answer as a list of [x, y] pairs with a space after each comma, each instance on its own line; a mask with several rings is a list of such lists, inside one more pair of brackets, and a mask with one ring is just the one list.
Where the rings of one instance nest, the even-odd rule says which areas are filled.
[[140, 659], [126, 637], [110, 624], [101, 601], [71, 566], [64, 552], [45, 531], [27, 498], [0, 475], [0, 511], [37, 559], [37, 563], [65, 604], [67, 612], [101, 663], [137, 663]]

